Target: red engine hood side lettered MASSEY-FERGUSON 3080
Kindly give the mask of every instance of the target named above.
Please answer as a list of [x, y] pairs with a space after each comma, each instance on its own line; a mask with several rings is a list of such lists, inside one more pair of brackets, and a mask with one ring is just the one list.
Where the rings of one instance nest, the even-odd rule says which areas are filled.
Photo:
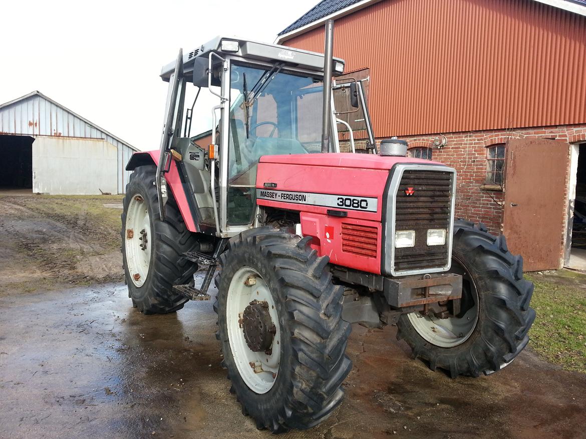
[[329, 156], [333, 163], [322, 165], [261, 160], [257, 204], [301, 212], [301, 232], [314, 238], [312, 247], [320, 256], [380, 274], [381, 214], [389, 170], [336, 166], [335, 155]]

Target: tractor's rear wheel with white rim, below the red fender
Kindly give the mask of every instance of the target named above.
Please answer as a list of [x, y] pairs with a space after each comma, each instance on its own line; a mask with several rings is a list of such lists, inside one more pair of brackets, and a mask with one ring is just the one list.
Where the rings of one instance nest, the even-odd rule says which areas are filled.
[[122, 210], [122, 261], [132, 304], [145, 314], [165, 314], [183, 308], [188, 299], [173, 285], [193, 283], [197, 265], [183, 252], [197, 251], [196, 235], [185, 227], [173, 196], [161, 221], [155, 186], [155, 166], [138, 166], [130, 175]]

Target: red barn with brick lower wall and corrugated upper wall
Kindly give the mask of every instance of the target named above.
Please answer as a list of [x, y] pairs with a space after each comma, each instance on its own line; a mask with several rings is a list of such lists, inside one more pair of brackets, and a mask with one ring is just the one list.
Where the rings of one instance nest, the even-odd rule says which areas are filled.
[[529, 270], [586, 262], [586, 0], [323, 0], [277, 42], [323, 52], [329, 18], [376, 138], [458, 170], [456, 215]]

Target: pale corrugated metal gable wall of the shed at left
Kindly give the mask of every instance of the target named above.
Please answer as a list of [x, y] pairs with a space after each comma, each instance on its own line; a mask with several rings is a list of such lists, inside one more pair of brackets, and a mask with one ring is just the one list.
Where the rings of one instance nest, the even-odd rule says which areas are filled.
[[63, 107], [40, 91], [0, 104], [0, 134], [104, 139], [118, 149], [118, 192], [130, 177], [124, 167], [137, 148]]

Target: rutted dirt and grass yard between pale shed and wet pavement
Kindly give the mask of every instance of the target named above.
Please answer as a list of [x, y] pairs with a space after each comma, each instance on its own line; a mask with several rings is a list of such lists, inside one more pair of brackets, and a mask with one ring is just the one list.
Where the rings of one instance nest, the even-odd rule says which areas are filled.
[[12, 193], [0, 194], [0, 296], [122, 280], [121, 210], [103, 206], [120, 196]]

